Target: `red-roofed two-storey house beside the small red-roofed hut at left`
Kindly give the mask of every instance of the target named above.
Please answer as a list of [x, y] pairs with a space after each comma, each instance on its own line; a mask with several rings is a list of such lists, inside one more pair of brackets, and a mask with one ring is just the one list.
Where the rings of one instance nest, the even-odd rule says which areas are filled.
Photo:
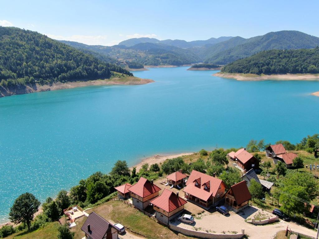
[[144, 210], [148, 205], [150, 205], [150, 200], [159, 195], [161, 190], [152, 181], [141, 177], [136, 184], [131, 186], [129, 189], [130, 195], [133, 201], [133, 205]]

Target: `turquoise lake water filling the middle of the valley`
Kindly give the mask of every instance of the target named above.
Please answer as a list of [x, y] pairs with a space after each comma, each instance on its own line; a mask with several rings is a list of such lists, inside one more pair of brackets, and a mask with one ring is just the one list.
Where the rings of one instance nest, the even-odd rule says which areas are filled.
[[155, 83], [90, 86], [0, 98], [0, 223], [14, 199], [43, 201], [116, 160], [296, 143], [318, 133], [317, 81], [240, 82], [187, 67], [134, 72]]

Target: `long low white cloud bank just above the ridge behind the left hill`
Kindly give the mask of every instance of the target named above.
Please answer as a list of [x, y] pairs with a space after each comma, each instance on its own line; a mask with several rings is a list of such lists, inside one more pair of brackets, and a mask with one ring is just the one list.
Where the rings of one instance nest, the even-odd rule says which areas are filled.
[[61, 36], [46, 34], [48, 37], [56, 40], [77, 41], [87, 45], [113, 46], [118, 44], [120, 40], [109, 40], [107, 35], [71, 35]]

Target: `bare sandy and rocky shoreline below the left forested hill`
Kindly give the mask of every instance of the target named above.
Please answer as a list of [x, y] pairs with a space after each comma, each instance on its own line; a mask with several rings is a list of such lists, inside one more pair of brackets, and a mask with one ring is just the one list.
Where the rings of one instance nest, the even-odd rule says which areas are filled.
[[84, 87], [90, 85], [140, 85], [154, 82], [151, 79], [142, 79], [135, 76], [128, 77], [113, 77], [111, 79], [105, 80], [88, 80], [88, 81], [73, 81], [73, 82], [57, 82], [52, 85], [39, 85], [38, 83], [33, 85], [21, 86], [19, 88], [10, 88], [4, 89], [0, 87], [0, 97], [3, 96], [11, 96], [11, 95], [20, 95], [27, 94], [33, 92], [41, 92], [41, 91], [55, 91], [62, 89], [71, 89], [76, 87]]

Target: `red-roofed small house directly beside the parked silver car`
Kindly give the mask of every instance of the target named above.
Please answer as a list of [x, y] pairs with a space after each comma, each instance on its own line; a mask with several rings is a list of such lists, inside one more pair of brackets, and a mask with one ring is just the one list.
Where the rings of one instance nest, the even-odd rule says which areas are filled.
[[161, 195], [151, 200], [151, 203], [155, 210], [155, 217], [168, 224], [169, 220], [184, 210], [184, 204], [187, 201], [179, 197], [178, 192], [175, 194], [168, 189], [164, 189]]

